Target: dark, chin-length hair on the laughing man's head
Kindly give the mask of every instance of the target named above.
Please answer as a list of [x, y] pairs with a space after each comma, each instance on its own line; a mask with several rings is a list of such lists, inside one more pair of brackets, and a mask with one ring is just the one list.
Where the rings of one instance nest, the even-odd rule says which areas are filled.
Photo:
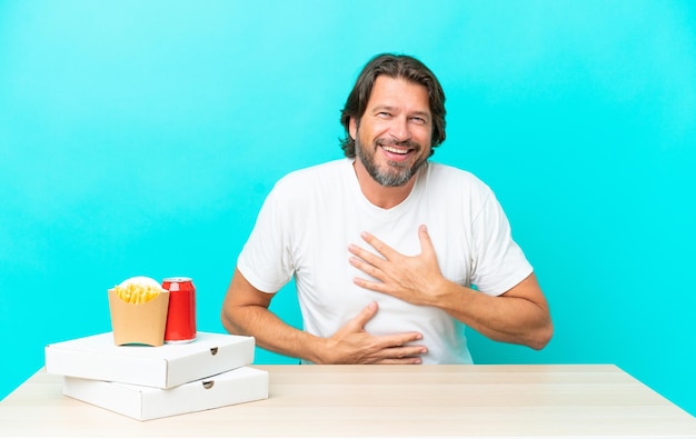
[[[346, 157], [356, 157], [355, 140], [350, 137], [350, 118], [360, 121], [367, 101], [372, 93], [375, 80], [380, 74], [391, 78], [404, 78], [415, 83], [424, 86], [428, 90], [428, 100], [430, 103], [430, 112], [432, 113], [432, 138], [430, 139], [431, 148], [438, 147], [445, 141], [445, 92], [440, 82], [435, 74], [422, 62], [407, 54], [381, 53], [374, 57], [358, 76], [346, 106], [341, 110], [340, 122], [346, 130], [346, 136], [340, 140], [340, 147]], [[435, 152], [430, 150], [430, 154]]]

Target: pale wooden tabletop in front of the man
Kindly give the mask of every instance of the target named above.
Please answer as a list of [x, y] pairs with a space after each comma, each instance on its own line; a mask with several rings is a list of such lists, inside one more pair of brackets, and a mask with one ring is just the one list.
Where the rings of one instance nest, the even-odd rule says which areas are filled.
[[269, 399], [145, 422], [40, 370], [0, 402], [0, 436], [696, 438], [696, 418], [610, 365], [252, 367]]

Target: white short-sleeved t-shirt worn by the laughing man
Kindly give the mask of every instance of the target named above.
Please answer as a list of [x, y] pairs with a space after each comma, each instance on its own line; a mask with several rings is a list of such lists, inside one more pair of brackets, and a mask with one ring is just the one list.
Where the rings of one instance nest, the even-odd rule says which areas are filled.
[[428, 162], [408, 198], [381, 209], [362, 194], [351, 159], [280, 179], [259, 212], [238, 269], [265, 292], [277, 292], [295, 276], [304, 329], [310, 333], [329, 337], [377, 301], [379, 310], [366, 331], [419, 331], [418, 343], [428, 348], [424, 363], [471, 363], [464, 325], [445, 311], [352, 282], [369, 277], [348, 262], [348, 245], [374, 251], [360, 232], [412, 256], [420, 253], [420, 225], [428, 227], [443, 275], [454, 282], [498, 296], [533, 271], [493, 191], [471, 173]]

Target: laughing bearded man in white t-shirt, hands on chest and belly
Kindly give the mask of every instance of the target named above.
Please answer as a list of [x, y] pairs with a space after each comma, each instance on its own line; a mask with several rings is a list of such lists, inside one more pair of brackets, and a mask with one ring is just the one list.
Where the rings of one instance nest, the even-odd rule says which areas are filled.
[[[341, 114], [346, 158], [266, 199], [222, 306], [229, 332], [314, 363], [470, 363], [464, 327], [546, 346], [547, 301], [495, 196], [428, 161], [444, 103], [417, 59], [366, 64]], [[292, 277], [304, 330], [268, 309]]]

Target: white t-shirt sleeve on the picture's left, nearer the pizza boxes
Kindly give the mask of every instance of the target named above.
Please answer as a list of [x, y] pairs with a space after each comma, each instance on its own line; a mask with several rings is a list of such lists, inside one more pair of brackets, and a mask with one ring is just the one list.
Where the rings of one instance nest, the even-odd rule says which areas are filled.
[[237, 259], [237, 268], [255, 288], [277, 292], [292, 277], [290, 216], [282, 188], [271, 190]]

